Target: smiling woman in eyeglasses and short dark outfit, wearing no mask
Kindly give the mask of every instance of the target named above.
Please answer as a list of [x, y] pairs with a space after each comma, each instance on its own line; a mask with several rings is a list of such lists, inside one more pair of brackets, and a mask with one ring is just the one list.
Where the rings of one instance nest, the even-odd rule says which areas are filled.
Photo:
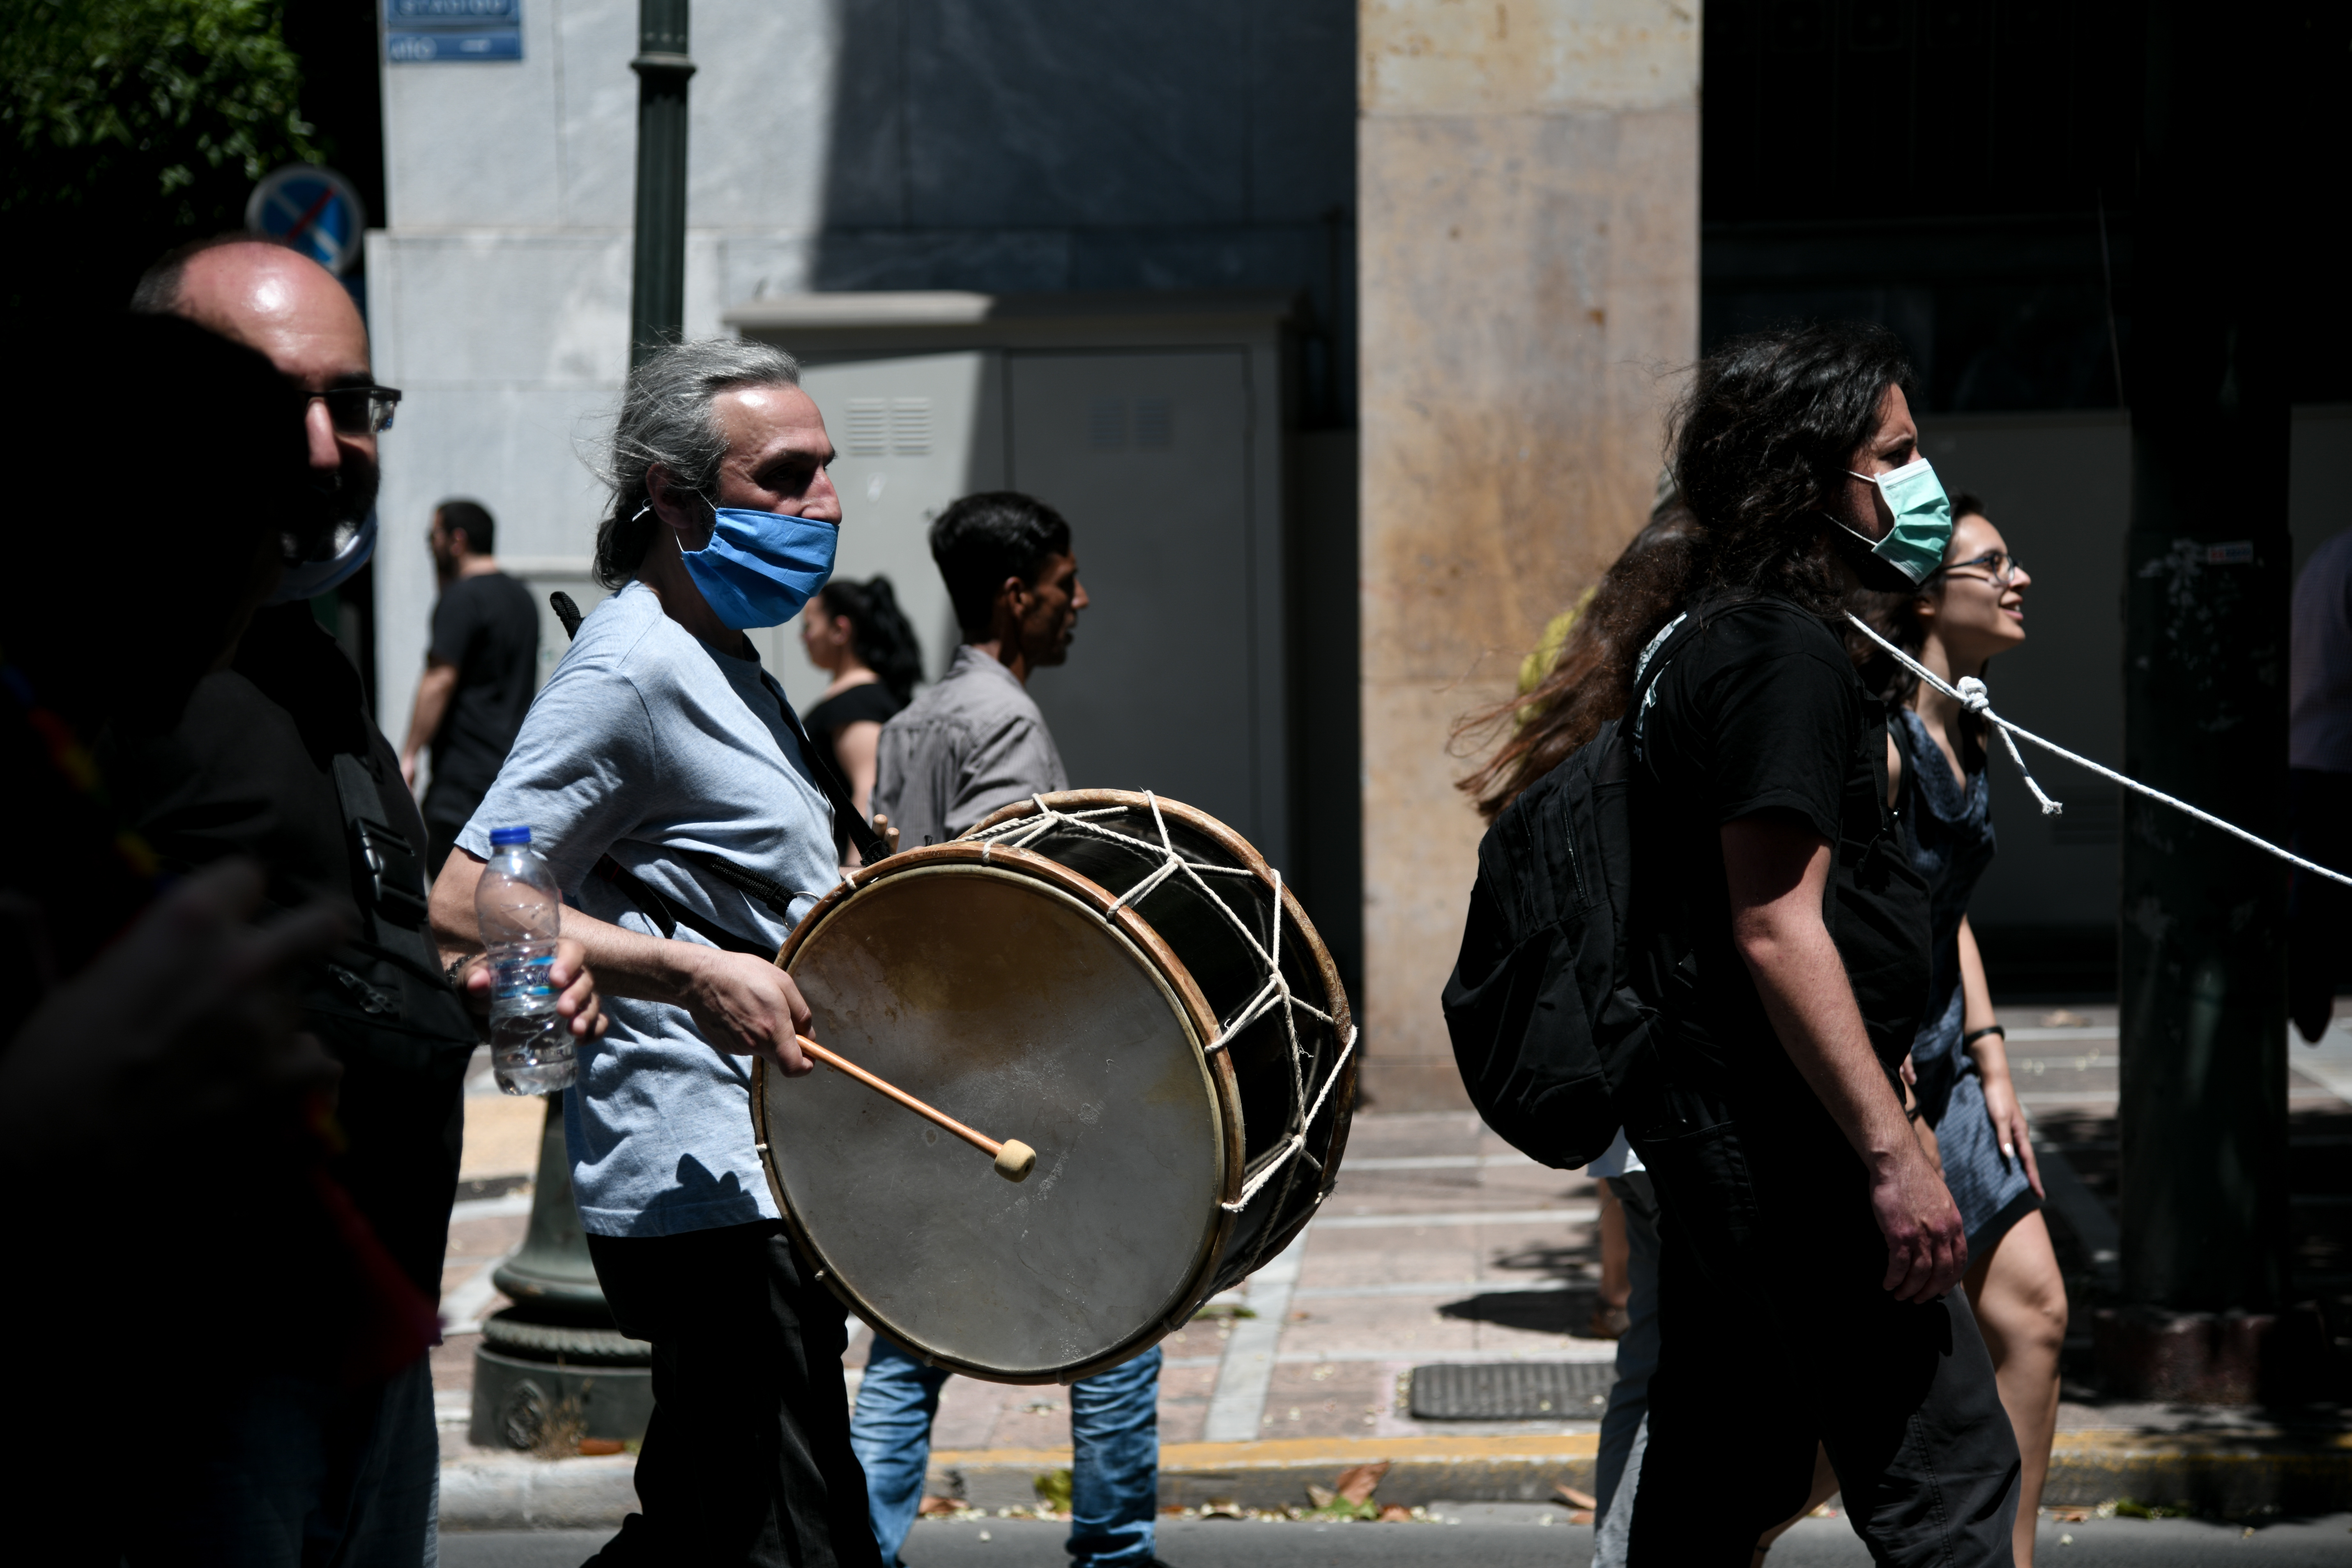
[[[2009, 552], [1976, 496], [1952, 496], [1945, 564], [1917, 595], [1865, 595], [1863, 618], [1945, 684], [1983, 679], [1994, 654], [2025, 642], [2032, 576]], [[1875, 651], [1875, 649], [1872, 649]], [[1889, 668], [1884, 661], [1879, 668]], [[1898, 672], [1900, 675], [1900, 672]], [[1933, 978], [1912, 1044], [1917, 1117], [1933, 1128], [1943, 1180], [1969, 1227], [1969, 1305], [1992, 1352], [2002, 1406], [2018, 1434], [2016, 1561], [2034, 1561], [2034, 1519], [2058, 1425], [2058, 1347], [2067, 1305], [2042, 1222], [2042, 1175], [2009, 1079], [1985, 961], [1969, 931], [1969, 896], [1992, 865], [1992, 797], [1983, 719], [1926, 682], [1900, 675], [1905, 701], [1886, 726], [1886, 773], [1912, 867], [1929, 884]]]

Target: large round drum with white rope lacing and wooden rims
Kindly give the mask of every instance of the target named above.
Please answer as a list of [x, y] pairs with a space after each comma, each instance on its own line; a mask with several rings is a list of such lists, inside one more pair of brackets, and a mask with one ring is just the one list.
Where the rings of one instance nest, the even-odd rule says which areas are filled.
[[1331, 1192], [1348, 997], [1279, 875], [1202, 811], [1124, 790], [1007, 806], [847, 877], [776, 961], [814, 1039], [1037, 1150], [1011, 1185], [837, 1072], [755, 1067], [762, 1161], [804, 1258], [934, 1366], [1117, 1366]]

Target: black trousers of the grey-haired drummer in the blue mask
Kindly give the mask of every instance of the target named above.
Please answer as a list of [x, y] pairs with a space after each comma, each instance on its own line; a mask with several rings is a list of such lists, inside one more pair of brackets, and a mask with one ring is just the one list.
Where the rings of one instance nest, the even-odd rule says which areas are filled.
[[849, 1450], [842, 1307], [783, 1225], [588, 1237], [621, 1328], [654, 1345], [642, 1514], [604, 1568], [880, 1568], [866, 1469]]

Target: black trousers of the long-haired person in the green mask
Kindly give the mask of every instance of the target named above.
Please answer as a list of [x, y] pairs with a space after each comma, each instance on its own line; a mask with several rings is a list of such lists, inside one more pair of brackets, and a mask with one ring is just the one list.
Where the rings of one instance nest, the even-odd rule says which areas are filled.
[[2009, 1563], [2018, 1443], [1966, 1295], [1879, 1286], [1867, 1180], [1818, 1103], [1686, 1126], [1642, 1143], [1665, 1222], [1628, 1563], [1745, 1568], [1816, 1441], [1872, 1561]]

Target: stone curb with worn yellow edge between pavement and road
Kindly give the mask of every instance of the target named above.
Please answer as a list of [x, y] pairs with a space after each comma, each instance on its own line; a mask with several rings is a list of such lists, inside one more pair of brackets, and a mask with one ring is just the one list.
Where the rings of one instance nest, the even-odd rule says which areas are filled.
[[[1381, 1502], [1550, 1502], [1557, 1483], [1592, 1486], [1599, 1436], [1336, 1436], [1254, 1443], [1167, 1443], [1160, 1505], [1242, 1507], [1305, 1502], [1350, 1465], [1388, 1462]], [[1065, 1469], [1068, 1448], [934, 1450], [927, 1490], [971, 1507], [1033, 1507], [1037, 1474]], [[440, 1474], [445, 1530], [612, 1528], [637, 1507], [635, 1460], [452, 1460]], [[2352, 1509], [2352, 1434], [2060, 1432], [2044, 1505], [2091, 1507], [2114, 1497], [2187, 1502], [2206, 1514]]]

